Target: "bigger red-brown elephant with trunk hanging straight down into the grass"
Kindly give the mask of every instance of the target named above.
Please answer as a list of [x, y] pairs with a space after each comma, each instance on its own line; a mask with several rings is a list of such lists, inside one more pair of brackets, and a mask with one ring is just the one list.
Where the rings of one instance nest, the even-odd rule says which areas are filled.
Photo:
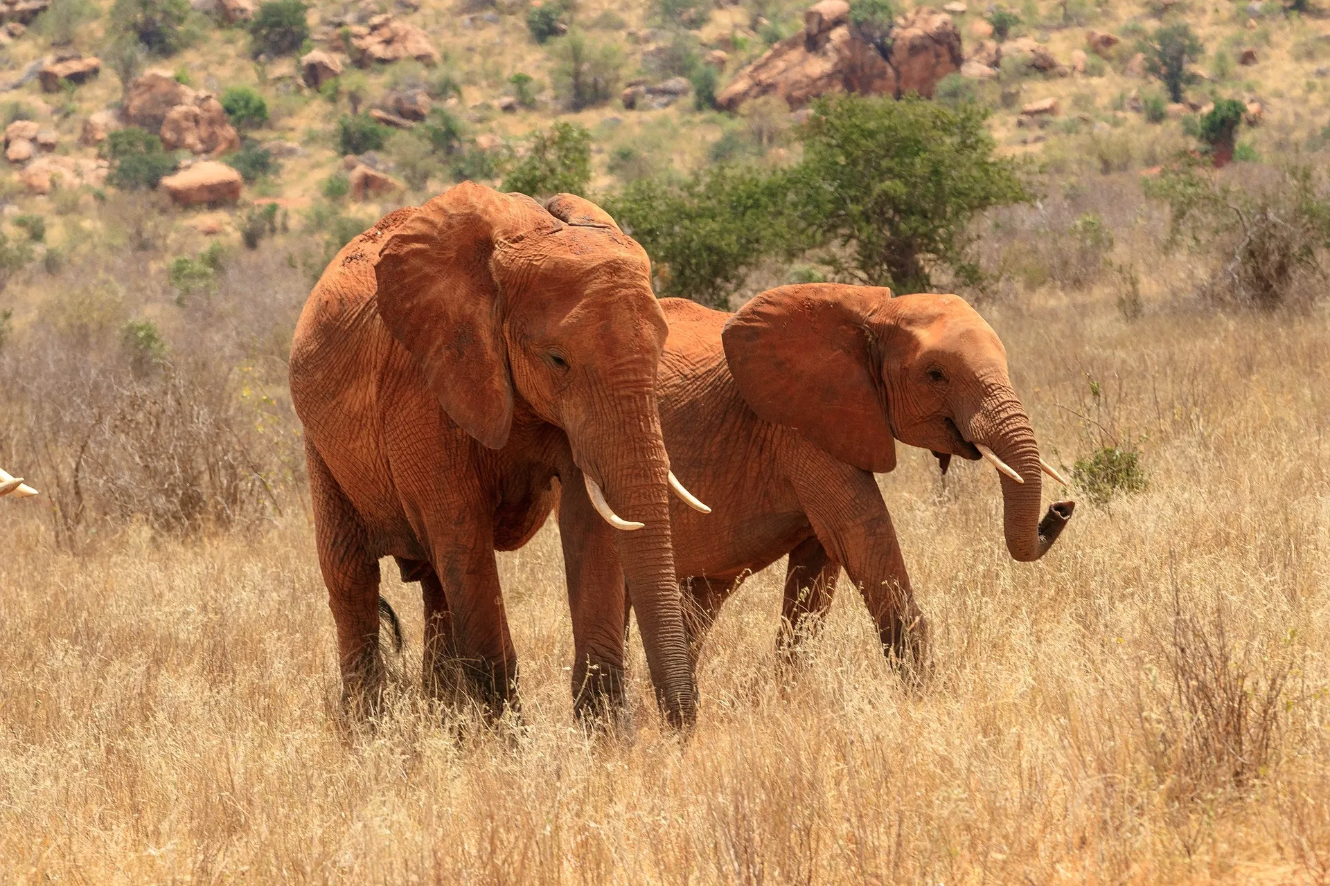
[[[561, 490], [565, 510], [597, 514], [585, 545], [624, 565], [668, 717], [694, 719], [656, 396], [666, 331], [646, 254], [567, 194], [541, 206], [459, 185], [332, 259], [290, 375], [348, 699], [382, 687], [379, 558], [392, 555], [422, 583], [426, 685], [456, 660], [492, 708], [512, 701], [493, 551], [525, 543]], [[565, 542], [572, 563], [579, 545]], [[606, 607], [573, 596], [580, 712], [620, 700], [622, 582]]]

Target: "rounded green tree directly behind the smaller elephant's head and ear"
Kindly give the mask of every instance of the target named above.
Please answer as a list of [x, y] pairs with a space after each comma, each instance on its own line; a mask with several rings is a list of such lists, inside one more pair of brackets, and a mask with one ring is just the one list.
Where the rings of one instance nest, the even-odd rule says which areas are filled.
[[1031, 199], [1015, 161], [994, 157], [986, 117], [916, 97], [819, 100], [795, 170], [798, 215], [814, 242], [851, 250], [853, 264], [833, 267], [899, 292], [927, 291], [936, 263], [976, 282], [970, 222]]

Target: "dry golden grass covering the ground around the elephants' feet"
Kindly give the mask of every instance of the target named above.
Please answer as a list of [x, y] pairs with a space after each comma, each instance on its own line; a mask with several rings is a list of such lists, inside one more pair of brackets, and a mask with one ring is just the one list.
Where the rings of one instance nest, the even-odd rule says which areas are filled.
[[[355, 729], [299, 514], [72, 558], [3, 502], [4, 878], [1330, 882], [1330, 319], [1128, 324], [1112, 298], [986, 313], [1045, 450], [1099, 445], [1061, 404], [1144, 438], [1149, 487], [1083, 502], [1017, 565], [992, 472], [942, 482], [911, 450], [883, 490], [935, 628], [932, 683], [902, 685], [845, 586], [803, 667], [778, 672], [767, 570], [709, 639], [686, 741], [649, 707], [636, 638], [634, 727], [573, 725], [552, 527], [501, 557], [524, 725], [419, 700], [419, 607], [394, 579], [411, 639], [391, 711]], [[1170, 664], [1174, 636], [1193, 669]], [[1218, 673], [1194, 669], [1221, 639]], [[1182, 704], [1238, 672], [1229, 700], [1254, 704], [1289, 668], [1265, 720]], [[1265, 756], [1204, 752], [1261, 725]]]

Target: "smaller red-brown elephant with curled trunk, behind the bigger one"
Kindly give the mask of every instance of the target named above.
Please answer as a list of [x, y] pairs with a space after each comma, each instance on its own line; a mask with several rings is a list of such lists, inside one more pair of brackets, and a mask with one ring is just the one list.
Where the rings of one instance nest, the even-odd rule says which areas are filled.
[[[896, 441], [932, 450], [943, 469], [951, 456], [988, 458], [1001, 472], [1017, 561], [1043, 557], [1071, 518], [1069, 501], [1040, 518], [1040, 476], [1052, 469], [1001, 341], [963, 299], [807, 284], [763, 292], [733, 315], [685, 299], [661, 307], [665, 445], [680, 478], [716, 507], [670, 514], [694, 647], [746, 574], [789, 554], [782, 640], [826, 610], [843, 566], [883, 648], [923, 656], [927, 631], [874, 480], [895, 468]], [[564, 531], [577, 531], [569, 522]]]

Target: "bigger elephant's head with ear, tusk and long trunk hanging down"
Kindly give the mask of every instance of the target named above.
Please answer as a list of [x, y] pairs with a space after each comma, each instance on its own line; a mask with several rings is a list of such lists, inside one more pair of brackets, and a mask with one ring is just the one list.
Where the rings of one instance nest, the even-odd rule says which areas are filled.
[[501, 449], [519, 406], [564, 429], [593, 505], [622, 530], [652, 680], [692, 720], [656, 406], [668, 327], [646, 254], [579, 197], [541, 206], [468, 182], [391, 230], [375, 275], [383, 321], [467, 433]]

